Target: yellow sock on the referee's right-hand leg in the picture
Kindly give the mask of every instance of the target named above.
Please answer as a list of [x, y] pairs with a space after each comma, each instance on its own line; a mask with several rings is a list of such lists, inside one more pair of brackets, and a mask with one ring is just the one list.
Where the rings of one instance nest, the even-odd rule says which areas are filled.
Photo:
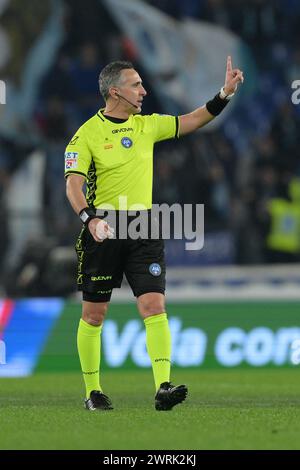
[[151, 359], [156, 390], [170, 381], [171, 334], [166, 313], [152, 315], [144, 320], [146, 345]]

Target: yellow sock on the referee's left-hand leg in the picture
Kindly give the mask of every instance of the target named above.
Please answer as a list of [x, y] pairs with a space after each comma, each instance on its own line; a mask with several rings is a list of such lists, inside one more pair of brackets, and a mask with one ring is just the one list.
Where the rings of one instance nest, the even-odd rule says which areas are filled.
[[86, 398], [92, 390], [100, 390], [100, 348], [102, 325], [93, 326], [80, 319], [77, 333], [78, 354], [86, 388]]

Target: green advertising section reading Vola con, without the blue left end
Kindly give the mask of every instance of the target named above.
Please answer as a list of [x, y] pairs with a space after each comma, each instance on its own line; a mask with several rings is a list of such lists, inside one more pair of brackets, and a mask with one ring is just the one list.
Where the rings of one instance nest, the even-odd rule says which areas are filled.
[[[76, 303], [65, 305], [37, 370], [79, 370], [80, 310]], [[177, 303], [167, 311], [173, 367], [299, 367], [299, 302]], [[134, 303], [111, 305], [102, 330], [101, 367], [150, 367]]]

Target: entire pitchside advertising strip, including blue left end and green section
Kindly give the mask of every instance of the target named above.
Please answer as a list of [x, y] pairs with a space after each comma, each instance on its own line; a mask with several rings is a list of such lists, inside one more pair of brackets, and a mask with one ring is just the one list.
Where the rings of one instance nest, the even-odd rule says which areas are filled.
[[[299, 301], [170, 303], [167, 311], [175, 368], [300, 366]], [[80, 316], [78, 302], [2, 301], [0, 377], [79, 372]], [[134, 302], [111, 305], [102, 330], [101, 367], [151, 367]]]

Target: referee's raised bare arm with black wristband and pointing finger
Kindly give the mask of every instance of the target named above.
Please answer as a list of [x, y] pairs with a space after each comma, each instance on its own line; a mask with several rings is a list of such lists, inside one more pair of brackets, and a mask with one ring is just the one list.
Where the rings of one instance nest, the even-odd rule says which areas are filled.
[[232, 69], [231, 57], [227, 57], [225, 84], [221, 91], [204, 106], [195, 109], [189, 114], [179, 116], [179, 136], [205, 126], [216, 117], [226, 106], [231, 96], [235, 93], [239, 83], [243, 83], [243, 72], [240, 69]]

